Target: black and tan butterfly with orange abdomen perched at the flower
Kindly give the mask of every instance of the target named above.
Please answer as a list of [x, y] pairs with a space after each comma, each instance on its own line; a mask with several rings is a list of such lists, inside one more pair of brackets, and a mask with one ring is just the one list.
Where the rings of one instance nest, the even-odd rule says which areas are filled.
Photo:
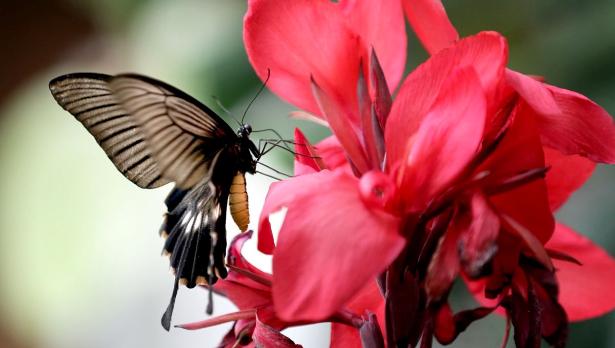
[[201, 102], [143, 75], [68, 74], [52, 80], [49, 90], [127, 179], [141, 188], [175, 182], [160, 230], [175, 274], [161, 319], [169, 331], [179, 285], [213, 285], [227, 276], [227, 203], [239, 229], [247, 230], [245, 173], [255, 174], [261, 156], [249, 139], [252, 127], [235, 132]]

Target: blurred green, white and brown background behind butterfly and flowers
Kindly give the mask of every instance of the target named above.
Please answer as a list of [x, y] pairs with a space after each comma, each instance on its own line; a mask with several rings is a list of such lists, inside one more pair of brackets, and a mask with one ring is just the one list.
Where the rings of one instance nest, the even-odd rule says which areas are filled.
[[[449, 0], [461, 36], [491, 29], [510, 45], [509, 67], [543, 75], [615, 114], [615, 2]], [[215, 347], [229, 325], [164, 331], [173, 277], [157, 231], [170, 187], [141, 190], [51, 97], [58, 75], [138, 72], [175, 85], [220, 112], [243, 114], [261, 82], [242, 43], [245, 1], [31, 0], [0, 2], [0, 347]], [[271, 18], [274, 20], [274, 18]], [[410, 72], [427, 54], [408, 31]], [[291, 120], [293, 107], [263, 91], [245, 120], [317, 142], [322, 126]], [[220, 112], [223, 115], [222, 112]], [[223, 115], [226, 117], [226, 115]], [[234, 122], [229, 122], [233, 125]], [[255, 134], [256, 135], [256, 134]], [[292, 157], [265, 163], [292, 172]], [[252, 220], [271, 179], [248, 177]], [[598, 166], [558, 219], [615, 254], [615, 167]], [[269, 268], [248, 242], [251, 260]], [[461, 284], [459, 284], [461, 285]], [[456, 308], [474, 304], [455, 289]], [[203, 290], [180, 289], [173, 323], [205, 319]], [[234, 310], [216, 298], [215, 314]], [[615, 347], [615, 314], [571, 325], [570, 347]], [[327, 347], [328, 325], [285, 331]], [[458, 347], [497, 347], [504, 320], [474, 323]]]

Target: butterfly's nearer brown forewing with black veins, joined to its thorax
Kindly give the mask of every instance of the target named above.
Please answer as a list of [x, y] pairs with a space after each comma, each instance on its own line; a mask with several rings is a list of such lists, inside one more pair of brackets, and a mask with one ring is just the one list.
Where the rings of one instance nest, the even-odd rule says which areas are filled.
[[141, 75], [111, 77], [111, 90], [141, 126], [162, 176], [189, 188], [208, 176], [213, 157], [238, 138], [207, 106]]

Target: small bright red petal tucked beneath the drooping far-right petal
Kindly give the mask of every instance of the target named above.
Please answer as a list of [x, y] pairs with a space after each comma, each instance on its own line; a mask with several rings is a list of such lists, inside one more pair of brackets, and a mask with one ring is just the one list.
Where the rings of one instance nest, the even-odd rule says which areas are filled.
[[[566, 156], [558, 150], [544, 148], [544, 161], [547, 172], [547, 193], [549, 206], [555, 212], [568, 197], [589, 179], [596, 164], [579, 155]], [[573, 170], [571, 170], [574, 168]]]

